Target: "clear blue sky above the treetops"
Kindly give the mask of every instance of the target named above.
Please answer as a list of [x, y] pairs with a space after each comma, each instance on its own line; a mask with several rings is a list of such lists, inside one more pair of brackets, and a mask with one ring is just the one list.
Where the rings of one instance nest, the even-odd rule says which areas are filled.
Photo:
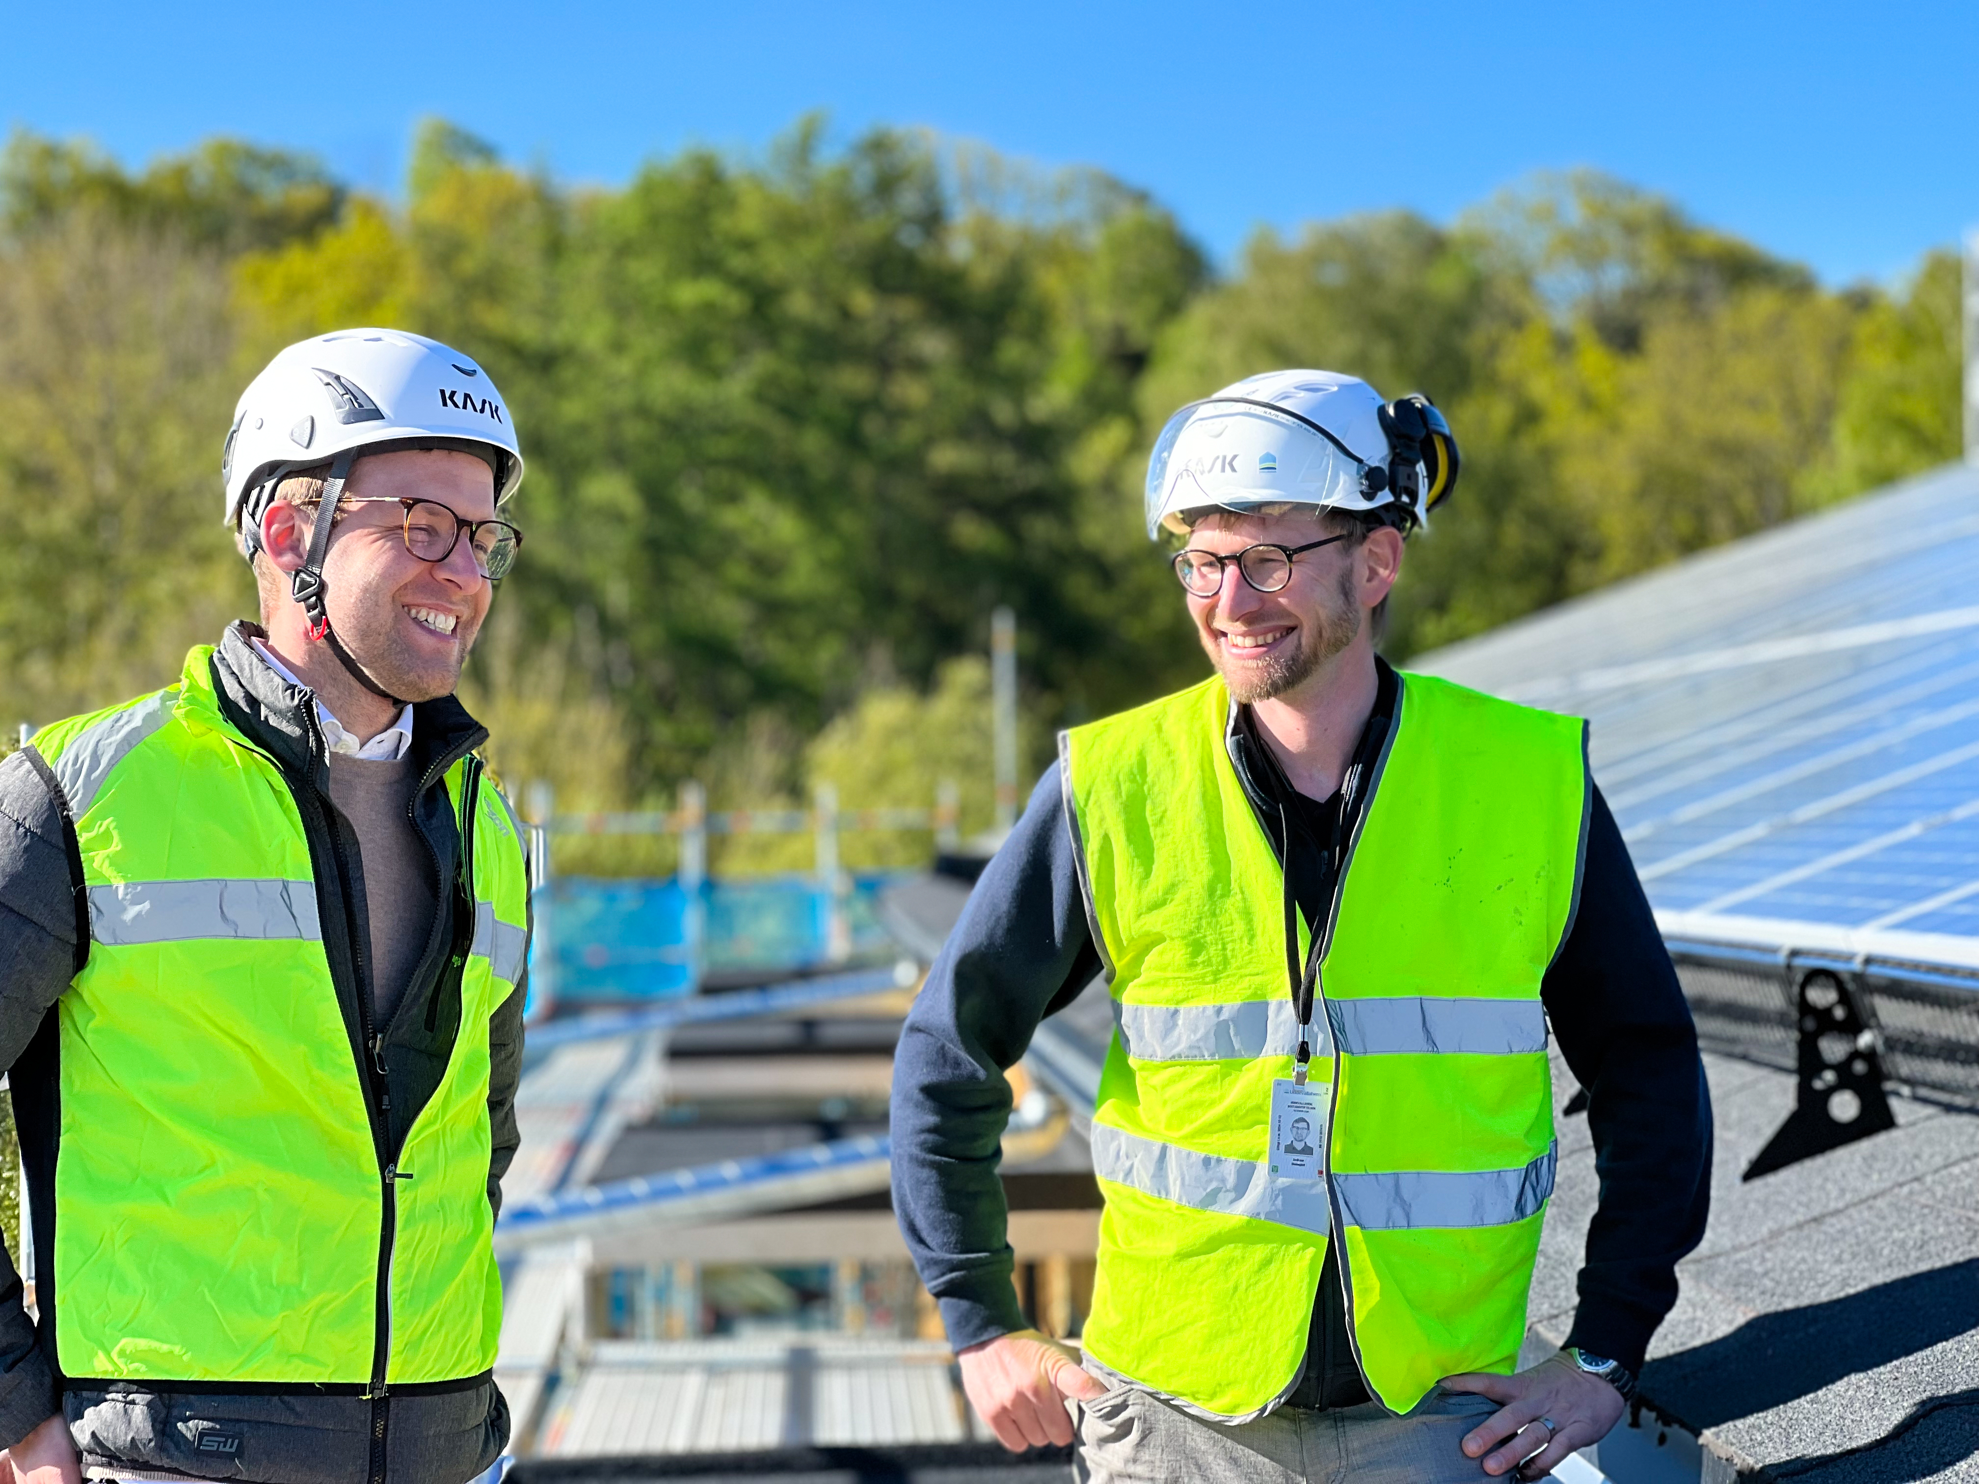
[[1597, 166], [1894, 279], [1979, 224], [1979, 6], [507, 4], [0, 0], [0, 123], [131, 164], [214, 133], [396, 188], [443, 115], [568, 180], [760, 152], [825, 109], [1092, 164], [1229, 261], [1261, 226], [1447, 220]]

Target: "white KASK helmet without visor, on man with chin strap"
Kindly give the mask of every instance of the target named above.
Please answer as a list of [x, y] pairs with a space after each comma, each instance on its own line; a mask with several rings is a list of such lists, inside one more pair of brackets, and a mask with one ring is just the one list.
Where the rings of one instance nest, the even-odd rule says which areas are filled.
[[522, 481], [509, 404], [459, 350], [408, 330], [336, 330], [277, 354], [241, 392], [220, 457], [226, 522], [251, 526], [275, 485], [338, 455], [406, 449], [479, 453], [495, 469], [495, 503]]

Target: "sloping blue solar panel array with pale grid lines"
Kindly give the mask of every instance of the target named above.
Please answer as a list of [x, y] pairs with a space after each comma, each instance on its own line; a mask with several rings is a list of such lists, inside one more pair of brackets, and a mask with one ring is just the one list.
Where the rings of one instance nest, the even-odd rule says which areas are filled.
[[1411, 669], [1593, 722], [1595, 782], [1666, 934], [1979, 966], [1979, 471]]

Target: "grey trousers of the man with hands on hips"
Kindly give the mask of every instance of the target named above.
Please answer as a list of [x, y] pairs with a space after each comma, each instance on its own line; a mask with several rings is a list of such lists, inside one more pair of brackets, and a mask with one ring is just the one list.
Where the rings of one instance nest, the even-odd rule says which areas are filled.
[[1494, 1411], [1490, 1397], [1439, 1387], [1407, 1417], [1373, 1403], [1280, 1407], [1225, 1427], [1138, 1387], [1114, 1387], [1083, 1407], [1079, 1476], [1090, 1484], [1468, 1484], [1490, 1474], [1457, 1444]]

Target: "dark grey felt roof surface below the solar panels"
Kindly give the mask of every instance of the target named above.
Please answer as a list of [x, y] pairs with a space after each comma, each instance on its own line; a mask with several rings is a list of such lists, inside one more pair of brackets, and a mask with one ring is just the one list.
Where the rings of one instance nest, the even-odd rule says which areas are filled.
[[[1563, 1102], [1573, 1076], [1555, 1068]], [[1767, 1478], [1979, 1478], [1979, 1118], [1892, 1096], [1894, 1130], [1742, 1185], [1795, 1078], [1716, 1055], [1706, 1070], [1712, 1219], [1678, 1268], [1645, 1395]], [[1587, 1120], [1557, 1128], [1530, 1304], [1552, 1344], [1573, 1322], [1597, 1195]]]

